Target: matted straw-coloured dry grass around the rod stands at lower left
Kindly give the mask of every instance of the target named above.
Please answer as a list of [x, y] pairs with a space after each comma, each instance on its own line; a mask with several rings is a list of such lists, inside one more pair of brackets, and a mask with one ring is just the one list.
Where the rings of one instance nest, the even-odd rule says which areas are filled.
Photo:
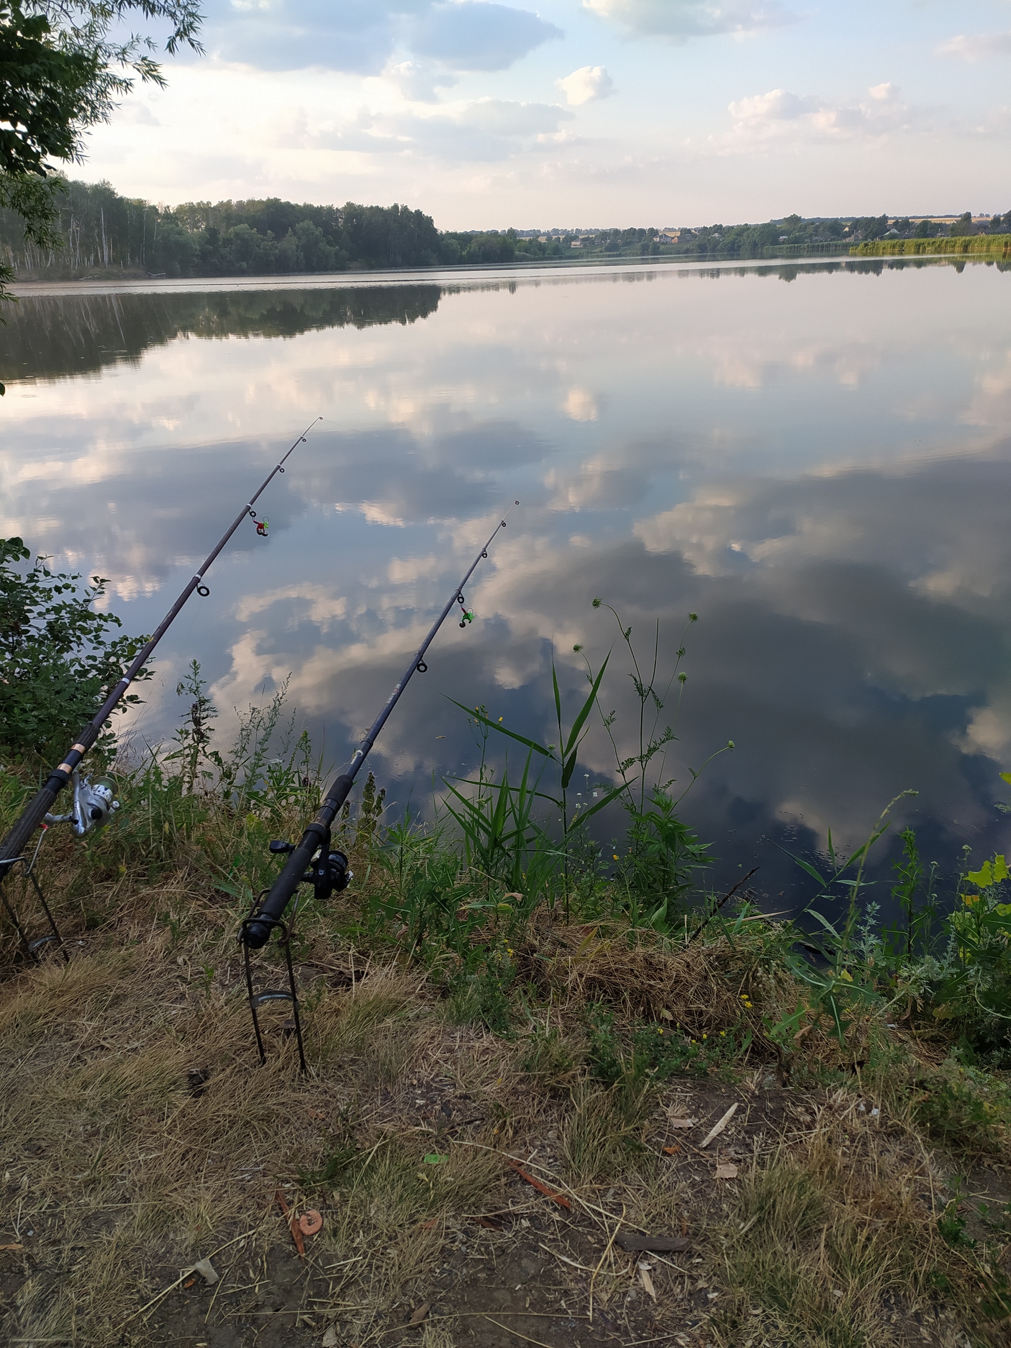
[[[47, 1258], [15, 1306], [32, 1335], [113, 1341], [154, 1290], [151, 1266], [182, 1266], [262, 1227], [274, 1189], [319, 1167], [334, 1120], [375, 1112], [376, 1096], [435, 1050], [441, 1026], [419, 1019], [418, 979], [379, 968], [350, 988], [305, 989], [311, 1077], [299, 1076], [283, 1031], [268, 1033], [259, 1068], [233, 952], [168, 944], [156, 926], [144, 941], [50, 960], [4, 985], [3, 1216], [46, 1233]], [[208, 957], [220, 973], [205, 973]], [[367, 1227], [392, 1243], [388, 1259], [371, 1262], [376, 1305], [439, 1244], [434, 1228], [410, 1240], [404, 1228], [488, 1188], [481, 1154], [454, 1157], [433, 1185], [418, 1178], [417, 1153], [380, 1139], [355, 1201], [328, 1224], [326, 1243], [341, 1246], [368, 1196]], [[276, 1223], [264, 1239], [276, 1239]]]

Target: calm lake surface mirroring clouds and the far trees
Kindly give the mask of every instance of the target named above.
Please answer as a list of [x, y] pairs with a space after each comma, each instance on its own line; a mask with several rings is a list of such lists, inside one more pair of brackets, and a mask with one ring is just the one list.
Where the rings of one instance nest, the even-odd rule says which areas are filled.
[[[111, 578], [151, 631], [302, 427], [324, 418], [164, 639], [133, 717], [151, 743], [195, 656], [222, 712], [288, 696], [344, 760], [514, 499], [508, 528], [387, 725], [372, 767], [430, 813], [472, 771], [450, 698], [542, 739], [613, 646], [601, 701], [635, 751], [612, 604], [687, 673], [665, 778], [716, 758], [683, 817], [713, 882], [780, 847], [844, 848], [905, 789], [946, 872], [1004, 851], [1011, 799], [1011, 272], [834, 262], [27, 287], [0, 328], [4, 534]], [[677, 687], [677, 685], [675, 685]], [[661, 716], [673, 716], [675, 698]], [[495, 737], [499, 739], [497, 736]], [[501, 763], [506, 741], [492, 744]], [[522, 764], [522, 751], [510, 755]], [[612, 783], [593, 727], [577, 774]], [[600, 816], [603, 837], [620, 814]], [[950, 886], [948, 887], [950, 892]]]

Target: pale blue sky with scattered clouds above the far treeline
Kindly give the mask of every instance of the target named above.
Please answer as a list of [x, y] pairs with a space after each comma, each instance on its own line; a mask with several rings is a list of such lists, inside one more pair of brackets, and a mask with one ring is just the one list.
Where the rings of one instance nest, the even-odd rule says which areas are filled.
[[441, 229], [1011, 209], [1011, 0], [206, 0], [75, 175]]

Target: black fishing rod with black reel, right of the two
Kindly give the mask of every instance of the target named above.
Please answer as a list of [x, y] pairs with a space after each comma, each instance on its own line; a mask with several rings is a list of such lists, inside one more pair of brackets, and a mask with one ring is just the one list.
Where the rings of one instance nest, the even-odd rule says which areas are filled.
[[[519, 501], [514, 501], [514, 506], [519, 506]], [[510, 507], [510, 511], [512, 506]], [[506, 511], [508, 518], [510, 511]], [[247, 979], [248, 979], [248, 952], [252, 948], [259, 950], [264, 946], [275, 927], [282, 929], [282, 940], [287, 949], [287, 930], [283, 923], [284, 910], [291, 902], [295, 890], [303, 882], [311, 884], [315, 890], [317, 898], [326, 899], [334, 891], [340, 891], [348, 887], [350, 882], [350, 871], [348, 871], [348, 857], [342, 852], [330, 851], [330, 828], [337, 811], [348, 799], [350, 789], [355, 785], [355, 778], [359, 774], [359, 768], [368, 758], [369, 749], [376, 743], [379, 732], [387, 723], [387, 718], [392, 709], [400, 700], [402, 693], [411, 681], [411, 677], [417, 674], [423, 674], [427, 670], [425, 663], [425, 652], [435, 638], [435, 634], [442, 627], [445, 620], [449, 617], [453, 605], [460, 604], [460, 625], [466, 627], [473, 621], [473, 612], [466, 607], [466, 600], [464, 599], [464, 586], [470, 580], [473, 573], [477, 570], [479, 563], [488, 555], [488, 549], [495, 542], [496, 535], [500, 530], [506, 528], [506, 519], [495, 526], [491, 538], [480, 550], [477, 557], [474, 557], [466, 574], [460, 581], [460, 584], [453, 589], [449, 600], [446, 601], [442, 612], [435, 619], [429, 630], [429, 635], [421, 643], [418, 650], [411, 656], [411, 663], [407, 666], [404, 673], [400, 675], [399, 682], [394, 686], [394, 692], [386, 701], [383, 710], [375, 718], [372, 725], [365, 732], [365, 737], [355, 749], [350, 762], [344, 768], [344, 771], [336, 778], [330, 790], [324, 797], [324, 803], [319, 807], [318, 814], [309, 825], [309, 828], [302, 834], [298, 844], [293, 842], [271, 842], [271, 852], [287, 853], [287, 861], [284, 863], [284, 869], [280, 872], [278, 879], [271, 886], [267, 892], [266, 899], [255, 909], [255, 911], [243, 922], [239, 940], [247, 949]], [[290, 961], [290, 953], [288, 953]], [[291, 971], [288, 971], [291, 972]], [[251, 1003], [252, 1003], [252, 984], [251, 988]], [[271, 993], [275, 996], [276, 993]], [[295, 1002], [294, 995], [294, 981], [293, 993], [290, 1000]], [[255, 1014], [255, 1011], [253, 1011]], [[259, 1042], [259, 1027], [257, 1027], [257, 1042]], [[301, 1050], [301, 1042], [299, 1042]], [[263, 1046], [260, 1045], [260, 1060], [263, 1061]]]

